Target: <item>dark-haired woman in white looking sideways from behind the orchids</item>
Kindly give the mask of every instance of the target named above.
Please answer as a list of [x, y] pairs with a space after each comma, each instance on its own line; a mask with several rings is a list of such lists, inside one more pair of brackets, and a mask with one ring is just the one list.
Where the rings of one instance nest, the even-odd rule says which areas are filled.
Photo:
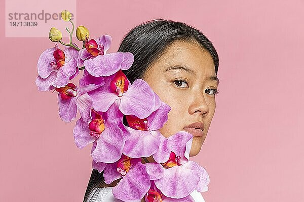
[[[160, 129], [163, 136], [169, 137], [178, 131], [192, 133], [190, 156], [196, 156], [215, 112], [219, 60], [213, 44], [191, 26], [157, 19], [132, 29], [118, 52], [134, 55], [132, 67], [123, 71], [131, 83], [138, 78], [145, 80], [171, 107], [168, 121]], [[128, 126], [125, 118], [124, 124]], [[148, 160], [154, 161], [152, 157]], [[107, 185], [103, 172], [93, 169], [84, 202], [120, 201], [111, 194], [111, 187], [118, 181]], [[204, 201], [199, 192], [192, 196], [196, 201]]]

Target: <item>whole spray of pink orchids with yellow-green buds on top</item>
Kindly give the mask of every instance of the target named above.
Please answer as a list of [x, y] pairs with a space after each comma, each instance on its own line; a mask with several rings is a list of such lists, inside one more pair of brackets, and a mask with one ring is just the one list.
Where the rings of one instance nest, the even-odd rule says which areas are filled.
[[[40, 91], [58, 92], [59, 116], [71, 122], [80, 113], [73, 129], [79, 148], [92, 143], [92, 168], [103, 172], [105, 183], [121, 179], [112, 188], [123, 201], [194, 201], [194, 190], [208, 190], [209, 176], [189, 160], [193, 135], [179, 131], [165, 138], [159, 131], [171, 108], [142, 79], [132, 84], [122, 70], [134, 62], [132, 53], [107, 53], [111, 36], [89, 40], [89, 31], [80, 26], [76, 36], [83, 47], [61, 41], [56, 28], [49, 38], [55, 46], [39, 57], [36, 85]], [[60, 49], [57, 42], [66, 47]], [[83, 70], [78, 86], [71, 83]], [[123, 123], [126, 118], [128, 126]], [[148, 162], [148, 157], [155, 162]]]

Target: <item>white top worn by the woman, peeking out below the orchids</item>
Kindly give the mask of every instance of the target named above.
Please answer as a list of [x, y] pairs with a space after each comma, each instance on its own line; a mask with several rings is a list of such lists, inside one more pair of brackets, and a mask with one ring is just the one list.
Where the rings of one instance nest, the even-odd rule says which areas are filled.
[[[94, 193], [94, 191], [96, 189], [102, 189], [101, 191], [99, 191], [97, 198], [100, 198], [100, 201], [109, 201], [109, 202], [121, 202], [122, 200], [119, 200], [117, 198], [115, 198], [112, 194], [112, 188], [113, 187], [94, 187], [91, 194], [88, 197], [88, 201], [90, 201], [92, 194]], [[202, 194], [200, 192], [198, 192], [197, 190], [195, 190], [194, 192], [192, 192], [190, 194], [193, 199], [196, 202], [205, 202]]]

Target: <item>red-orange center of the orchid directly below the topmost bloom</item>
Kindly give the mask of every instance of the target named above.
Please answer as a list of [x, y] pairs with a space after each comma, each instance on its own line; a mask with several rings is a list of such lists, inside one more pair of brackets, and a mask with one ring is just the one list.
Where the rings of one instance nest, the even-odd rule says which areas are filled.
[[122, 72], [122, 70], [119, 70], [111, 81], [110, 89], [112, 92], [117, 93], [117, 95], [121, 97], [123, 96], [123, 93], [128, 90], [128, 87], [129, 81], [126, 75]]

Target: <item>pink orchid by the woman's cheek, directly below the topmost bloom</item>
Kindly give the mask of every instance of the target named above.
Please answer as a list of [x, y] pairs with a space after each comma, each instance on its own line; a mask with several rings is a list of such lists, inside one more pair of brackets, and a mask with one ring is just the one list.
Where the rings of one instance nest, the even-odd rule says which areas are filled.
[[101, 87], [88, 92], [93, 100], [93, 108], [97, 111], [106, 112], [116, 100], [119, 100], [119, 110], [124, 115], [135, 115], [143, 119], [154, 112], [156, 105], [160, 104], [159, 97], [144, 80], [137, 79], [130, 85], [122, 70], [104, 77], [104, 82]]

